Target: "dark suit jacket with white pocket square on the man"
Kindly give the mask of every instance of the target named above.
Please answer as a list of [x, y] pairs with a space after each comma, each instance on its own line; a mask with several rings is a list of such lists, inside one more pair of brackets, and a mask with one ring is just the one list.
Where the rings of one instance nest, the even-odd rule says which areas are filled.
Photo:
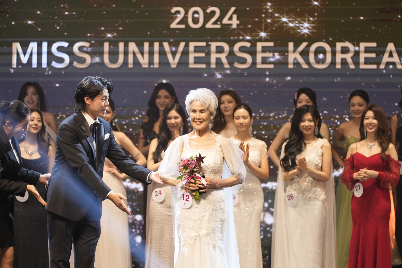
[[102, 118], [98, 121], [96, 158], [90, 126], [80, 111], [66, 118], [57, 130], [56, 163], [47, 187], [46, 209], [72, 221], [82, 219], [90, 209], [102, 215], [102, 201], [111, 191], [102, 180], [105, 157], [130, 177], [148, 184], [151, 170], [129, 159], [110, 124]]

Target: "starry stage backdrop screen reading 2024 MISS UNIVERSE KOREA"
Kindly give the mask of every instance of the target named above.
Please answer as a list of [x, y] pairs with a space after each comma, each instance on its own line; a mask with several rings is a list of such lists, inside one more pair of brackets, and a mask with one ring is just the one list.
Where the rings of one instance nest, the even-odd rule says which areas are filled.
[[[191, 89], [236, 91], [252, 107], [253, 135], [268, 146], [290, 120], [301, 87], [316, 91], [331, 138], [350, 116], [355, 89], [389, 117], [400, 112], [400, 1], [3, 0], [0, 10], [0, 101], [39, 82], [59, 124], [74, 113], [78, 82], [103, 76], [113, 82], [117, 123], [134, 144], [159, 82], [171, 83], [183, 106]], [[270, 163], [262, 181], [265, 267], [276, 175]], [[142, 267], [144, 186], [124, 183], [133, 267]]]

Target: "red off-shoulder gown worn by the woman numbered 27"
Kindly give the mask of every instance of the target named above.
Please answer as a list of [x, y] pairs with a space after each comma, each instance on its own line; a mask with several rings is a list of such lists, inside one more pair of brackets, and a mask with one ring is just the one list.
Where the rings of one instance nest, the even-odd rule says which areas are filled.
[[388, 155], [387, 161], [378, 153], [365, 157], [351, 155], [345, 161], [342, 181], [353, 190], [359, 181], [353, 173], [367, 168], [378, 171], [377, 178], [362, 181], [363, 195], [352, 196], [352, 237], [349, 248], [348, 268], [391, 268], [389, 222], [391, 200], [389, 190], [399, 181], [400, 164]]

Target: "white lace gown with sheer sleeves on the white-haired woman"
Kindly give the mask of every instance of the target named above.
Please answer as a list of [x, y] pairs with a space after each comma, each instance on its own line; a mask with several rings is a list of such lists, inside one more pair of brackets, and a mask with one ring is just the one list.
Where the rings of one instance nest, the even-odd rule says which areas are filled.
[[[208, 149], [194, 149], [188, 135], [176, 138], [165, 152], [159, 172], [162, 177], [177, 177], [177, 163], [180, 158], [189, 158], [201, 153], [202, 171], [206, 177], [222, 179], [224, 157], [233, 175], [240, 182], [246, 169], [241, 161], [242, 151], [227, 138], [218, 135], [215, 145]], [[183, 152], [180, 154], [180, 152]], [[172, 187], [172, 214], [175, 232], [175, 268], [239, 268], [236, 233], [232, 206], [232, 189], [210, 189], [194, 200], [185, 209], [178, 204], [178, 198], [185, 190], [175, 191]], [[175, 202], [176, 201], [176, 202]], [[168, 226], [167, 226], [168, 228]]]

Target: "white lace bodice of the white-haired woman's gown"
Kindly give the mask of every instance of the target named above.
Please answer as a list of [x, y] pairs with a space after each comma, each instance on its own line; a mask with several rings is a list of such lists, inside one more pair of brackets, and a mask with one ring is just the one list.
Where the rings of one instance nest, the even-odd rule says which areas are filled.
[[214, 179], [222, 179], [222, 169], [223, 169], [223, 159], [221, 150], [222, 136], [218, 135], [215, 138], [215, 145], [211, 148], [204, 149], [193, 149], [190, 146], [189, 136], [184, 136], [183, 153], [182, 158], [189, 158], [191, 156], [196, 156], [201, 153], [201, 156], [205, 157], [203, 159], [204, 163], [201, 163], [202, 172], [206, 177], [211, 177]]

